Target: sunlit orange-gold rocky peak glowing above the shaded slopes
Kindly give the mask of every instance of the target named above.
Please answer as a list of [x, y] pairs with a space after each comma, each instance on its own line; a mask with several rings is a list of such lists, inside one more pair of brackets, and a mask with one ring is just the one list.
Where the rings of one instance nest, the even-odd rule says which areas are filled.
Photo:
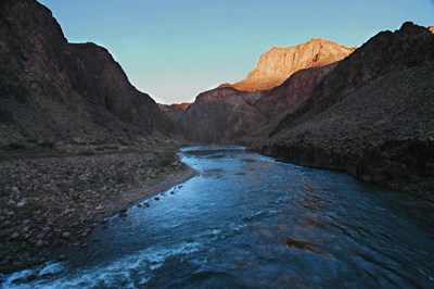
[[233, 87], [240, 91], [269, 90], [301, 70], [341, 61], [355, 50], [356, 48], [347, 48], [323, 39], [311, 39], [307, 43], [290, 48], [275, 47], [260, 56], [257, 67], [246, 79], [220, 87]]

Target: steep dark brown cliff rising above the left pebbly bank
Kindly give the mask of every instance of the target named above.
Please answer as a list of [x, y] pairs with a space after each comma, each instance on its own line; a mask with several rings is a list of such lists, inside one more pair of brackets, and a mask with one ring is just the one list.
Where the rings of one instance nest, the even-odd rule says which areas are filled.
[[0, 120], [5, 130], [52, 140], [104, 138], [114, 130], [119, 136], [126, 130], [176, 133], [107, 50], [68, 43], [51, 11], [37, 1], [1, 1], [0, 36]]

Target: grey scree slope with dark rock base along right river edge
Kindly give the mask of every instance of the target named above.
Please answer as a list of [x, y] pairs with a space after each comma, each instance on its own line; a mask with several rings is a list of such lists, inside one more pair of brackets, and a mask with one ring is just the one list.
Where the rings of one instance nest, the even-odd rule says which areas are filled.
[[248, 150], [434, 200], [434, 62], [390, 73]]

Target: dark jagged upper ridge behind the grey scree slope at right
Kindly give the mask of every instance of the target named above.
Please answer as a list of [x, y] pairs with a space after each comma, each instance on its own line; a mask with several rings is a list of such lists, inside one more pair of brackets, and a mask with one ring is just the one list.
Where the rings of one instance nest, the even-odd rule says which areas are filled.
[[272, 131], [276, 135], [327, 110], [382, 75], [422, 65], [434, 60], [433, 34], [425, 27], [405, 23], [395, 33], [371, 38], [324, 76], [296, 112], [289, 114]]

